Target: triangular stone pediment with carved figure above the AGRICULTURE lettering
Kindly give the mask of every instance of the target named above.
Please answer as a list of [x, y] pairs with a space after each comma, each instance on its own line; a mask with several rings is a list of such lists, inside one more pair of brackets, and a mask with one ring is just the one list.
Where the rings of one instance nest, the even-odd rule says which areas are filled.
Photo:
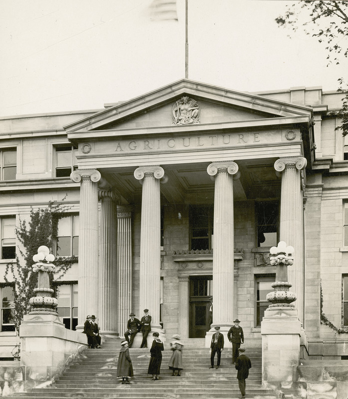
[[[177, 122], [175, 118], [182, 113], [183, 97], [192, 101], [196, 111], [188, 121]], [[270, 119], [272, 124], [272, 119], [310, 115], [311, 110], [306, 107], [183, 79], [121, 104], [111, 104], [105, 110], [64, 128], [73, 136], [86, 131], [134, 131], [160, 127], [190, 129], [191, 126], [197, 128], [197, 125], [209, 127], [265, 119]]]

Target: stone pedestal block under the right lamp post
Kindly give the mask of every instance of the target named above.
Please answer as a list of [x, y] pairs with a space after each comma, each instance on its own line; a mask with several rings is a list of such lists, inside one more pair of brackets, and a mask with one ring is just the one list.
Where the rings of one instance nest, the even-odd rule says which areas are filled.
[[294, 381], [293, 372], [299, 365], [301, 323], [297, 309], [268, 308], [261, 322], [261, 335], [262, 385], [278, 390]]

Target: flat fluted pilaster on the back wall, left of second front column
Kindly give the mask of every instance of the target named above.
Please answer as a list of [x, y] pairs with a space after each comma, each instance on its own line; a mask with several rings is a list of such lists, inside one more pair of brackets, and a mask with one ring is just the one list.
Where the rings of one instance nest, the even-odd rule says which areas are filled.
[[117, 331], [123, 337], [132, 310], [132, 210], [128, 206], [117, 206], [117, 232]]

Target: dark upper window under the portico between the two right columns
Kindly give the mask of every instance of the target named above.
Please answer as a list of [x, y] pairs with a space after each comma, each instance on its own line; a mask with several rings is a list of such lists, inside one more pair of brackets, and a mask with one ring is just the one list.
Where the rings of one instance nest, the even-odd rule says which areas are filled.
[[256, 202], [257, 246], [276, 246], [278, 233], [278, 202]]

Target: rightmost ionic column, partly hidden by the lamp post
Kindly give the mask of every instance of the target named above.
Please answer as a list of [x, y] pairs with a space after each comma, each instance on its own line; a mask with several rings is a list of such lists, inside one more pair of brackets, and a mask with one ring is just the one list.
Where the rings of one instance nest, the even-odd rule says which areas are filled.
[[303, 194], [301, 191], [301, 171], [306, 168], [303, 157], [287, 157], [277, 160], [274, 167], [282, 173], [280, 205], [280, 237], [294, 247], [294, 264], [288, 268], [288, 281], [297, 294], [300, 321], [304, 317], [304, 234], [303, 234]]

